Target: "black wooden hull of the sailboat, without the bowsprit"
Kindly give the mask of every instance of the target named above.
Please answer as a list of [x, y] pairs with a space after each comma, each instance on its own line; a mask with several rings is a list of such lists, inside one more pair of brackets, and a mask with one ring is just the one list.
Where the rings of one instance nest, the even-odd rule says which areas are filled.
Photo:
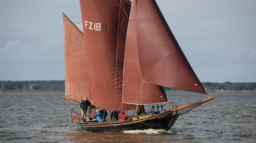
[[136, 129], [165, 129], [169, 130], [177, 120], [178, 115], [165, 112], [148, 118], [119, 123], [78, 123], [86, 132], [119, 132]]

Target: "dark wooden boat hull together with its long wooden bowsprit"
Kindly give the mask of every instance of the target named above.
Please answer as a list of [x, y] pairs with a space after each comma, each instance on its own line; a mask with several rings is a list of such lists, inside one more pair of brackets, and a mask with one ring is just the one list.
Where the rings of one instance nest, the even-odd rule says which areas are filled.
[[[206, 103], [207, 101], [213, 100], [215, 97], [211, 96], [209, 98], [203, 99], [201, 101], [194, 102], [192, 104], [187, 104], [185, 106], [177, 107], [175, 109], [152, 115], [145, 118], [141, 118], [133, 121], [119, 121], [119, 122], [76, 122], [84, 129], [86, 132], [120, 132], [124, 130], [136, 130], [136, 129], [165, 129], [168, 131], [172, 128], [175, 121], [179, 117], [179, 111], [187, 109], [189, 107], [199, 106]], [[193, 109], [192, 108], [192, 109]], [[191, 109], [189, 109], [190, 111]], [[182, 113], [183, 114], [183, 113]]]

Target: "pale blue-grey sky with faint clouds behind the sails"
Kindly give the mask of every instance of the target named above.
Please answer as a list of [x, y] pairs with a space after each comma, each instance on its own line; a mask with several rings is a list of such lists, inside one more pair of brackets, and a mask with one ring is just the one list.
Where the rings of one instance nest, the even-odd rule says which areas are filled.
[[[156, 1], [200, 81], [256, 82], [256, 0]], [[0, 0], [0, 81], [65, 79], [61, 12], [79, 0]]]

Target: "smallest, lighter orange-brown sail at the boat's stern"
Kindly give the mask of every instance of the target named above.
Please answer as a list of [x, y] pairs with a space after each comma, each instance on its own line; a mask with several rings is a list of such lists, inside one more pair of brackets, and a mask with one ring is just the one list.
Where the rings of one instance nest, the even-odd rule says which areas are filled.
[[65, 42], [65, 98], [80, 103], [90, 97], [84, 35], [76, 25], [63, 14]]

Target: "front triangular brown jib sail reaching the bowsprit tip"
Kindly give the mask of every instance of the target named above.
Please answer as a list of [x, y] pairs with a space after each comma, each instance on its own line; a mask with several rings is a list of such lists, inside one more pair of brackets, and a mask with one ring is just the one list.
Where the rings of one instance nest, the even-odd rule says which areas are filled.
[[[207, 94], [178, 45], [155, 0], [136, 3], [135, 28], [140, 67], [144, 81], [152, 84]], [[128, 43], [127, 43], [128, 44]]]

